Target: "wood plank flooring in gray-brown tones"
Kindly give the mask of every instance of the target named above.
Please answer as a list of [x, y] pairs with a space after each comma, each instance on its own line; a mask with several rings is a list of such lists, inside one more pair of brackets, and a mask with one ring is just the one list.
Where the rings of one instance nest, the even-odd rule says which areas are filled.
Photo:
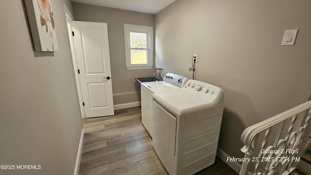
[[[140, 106], [114, 116], [83, 119], [79, 175], [168, 175], [141, 124]], [[238, 175], [218, 157], [198, 175]]]

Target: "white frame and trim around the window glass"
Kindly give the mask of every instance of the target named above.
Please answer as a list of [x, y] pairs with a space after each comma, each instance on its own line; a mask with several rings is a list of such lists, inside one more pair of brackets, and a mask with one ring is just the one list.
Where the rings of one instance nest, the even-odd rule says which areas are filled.
[[[147, 64], [131, 64], [130, 32], [147, 34]], [[151, 69], [154, 55], [154, 29], [150, 26], [124, 24], [125, 62], [127, 70]]]

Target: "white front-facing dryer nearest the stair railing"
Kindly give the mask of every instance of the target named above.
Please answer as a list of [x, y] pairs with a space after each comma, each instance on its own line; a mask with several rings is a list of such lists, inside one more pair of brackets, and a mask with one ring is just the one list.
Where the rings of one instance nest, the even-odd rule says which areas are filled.
[[154, 97], [153, 147], [170, 175], [193, 175], [214, 164], [224, 90], [189, 80]]

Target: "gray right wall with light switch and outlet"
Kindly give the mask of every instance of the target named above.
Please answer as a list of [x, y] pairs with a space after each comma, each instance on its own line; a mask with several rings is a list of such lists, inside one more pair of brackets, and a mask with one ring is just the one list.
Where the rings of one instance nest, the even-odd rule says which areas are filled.
[[[155, 15], [155, 66], [225, 90], [219, 147], [242, 157], [242, 131], [311, 93], [310, 0], [176, 0]], [[285, 30], [299, 29], [294, 46]]]

